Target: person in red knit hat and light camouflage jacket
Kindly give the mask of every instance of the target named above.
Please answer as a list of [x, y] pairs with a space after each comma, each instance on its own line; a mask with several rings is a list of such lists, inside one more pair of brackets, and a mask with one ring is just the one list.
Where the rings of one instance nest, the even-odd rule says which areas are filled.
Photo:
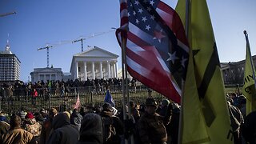
[[27, 113], [22, 128], [29, 131], [35, 138], [39, 138], [42, 126], [37, 122], [32, 113]]

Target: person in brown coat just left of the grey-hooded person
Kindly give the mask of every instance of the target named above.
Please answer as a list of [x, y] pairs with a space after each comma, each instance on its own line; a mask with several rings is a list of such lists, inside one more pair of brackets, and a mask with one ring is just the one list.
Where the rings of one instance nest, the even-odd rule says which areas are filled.
[[48, 118], [45, 122], [42, 123], [42, 131], [40, 135], [40, 144], [45, 144], [47, 139], [49, 138], [50, 134], [53, 131], [52, 122], [54, 117], [58, 114], [55, 108], [51, 108], [49, 110]]

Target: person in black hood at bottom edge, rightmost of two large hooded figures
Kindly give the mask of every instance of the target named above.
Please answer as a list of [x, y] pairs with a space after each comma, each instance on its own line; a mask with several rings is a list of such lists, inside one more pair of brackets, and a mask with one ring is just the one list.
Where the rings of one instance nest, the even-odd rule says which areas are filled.
[[80, 138], [78, 144], [102, 144], [103, 127], [102, 118], [98, 114], [86, 114], [82, 118]]

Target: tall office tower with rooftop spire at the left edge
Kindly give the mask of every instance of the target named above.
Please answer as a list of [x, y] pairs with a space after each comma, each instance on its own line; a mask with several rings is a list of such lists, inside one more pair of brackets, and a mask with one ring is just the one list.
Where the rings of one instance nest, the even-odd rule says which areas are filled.
[[6, 45], [6, 50], [0, 51], [0, 81], [15, 81], [20, 78], [21, 62], [12, 54], [10, 46]]

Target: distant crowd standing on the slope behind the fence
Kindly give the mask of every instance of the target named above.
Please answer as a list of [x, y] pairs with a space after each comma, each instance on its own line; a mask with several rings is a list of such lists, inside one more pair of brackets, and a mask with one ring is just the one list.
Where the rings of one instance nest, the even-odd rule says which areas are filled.
[[[137, 81], [132, 78], [128, 80], [130, 86], [135, 86]], [[103, 91], [110, 86], [114, 86], [116, 90], [122, 90], [122, 78], [109, 78], [109, 79], [99, 79], [95, 78], [93, 80], [87, 79], [86, 81], [68, 80], [66, 82], [47, 80], [38, 82], [4, 82], [0, 83], [0, 96], [3, 100], [6, 98], [11, 98], [13, 96], [17, 97], [28, 97], [34, 94], [34, 90], [37, 91], [39, 96], [44, 96], [46, 94], [63, 96], [66, 93], [74, 92], [78, 88], [87, 88], [90, 91]]]

